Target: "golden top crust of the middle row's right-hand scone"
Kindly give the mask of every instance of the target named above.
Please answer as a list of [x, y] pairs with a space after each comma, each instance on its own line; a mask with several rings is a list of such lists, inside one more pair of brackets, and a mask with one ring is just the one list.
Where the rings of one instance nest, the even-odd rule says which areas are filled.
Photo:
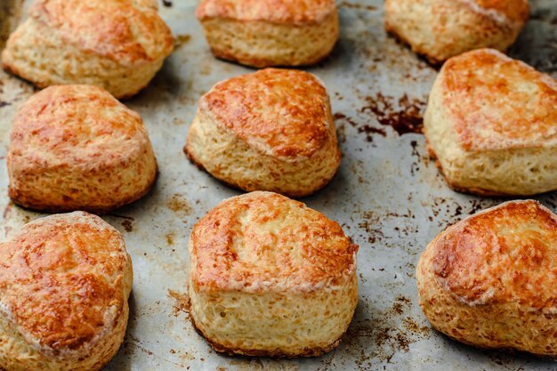
[[440, 71], [445, 114], [466, 151], [557, 145], [557, 80], [502, 52], [480, 49]]

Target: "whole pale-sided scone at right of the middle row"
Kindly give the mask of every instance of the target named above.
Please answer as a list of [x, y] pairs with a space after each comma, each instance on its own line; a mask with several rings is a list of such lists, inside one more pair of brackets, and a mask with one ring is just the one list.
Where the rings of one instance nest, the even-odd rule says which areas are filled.
[[557, 80], [495, 50], [448, 60], [424, 117], [448, 184], [479, 195], [557, 190]]

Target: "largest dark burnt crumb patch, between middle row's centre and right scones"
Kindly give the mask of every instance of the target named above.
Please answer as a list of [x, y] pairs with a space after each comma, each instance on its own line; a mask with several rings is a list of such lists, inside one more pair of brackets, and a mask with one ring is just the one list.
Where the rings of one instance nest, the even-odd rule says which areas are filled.
[[375, 97], [366, 97], [367, 106], [360, 109], [361, 113], [371, 113], [381, 125], [392, 126], [399, 133], [422, 133], [424, 117], [422, 112], [425, 101], [408, 98], [404, 94], [398, 101], [399, 109], [395, 109], [392, 97], [377, 93]]

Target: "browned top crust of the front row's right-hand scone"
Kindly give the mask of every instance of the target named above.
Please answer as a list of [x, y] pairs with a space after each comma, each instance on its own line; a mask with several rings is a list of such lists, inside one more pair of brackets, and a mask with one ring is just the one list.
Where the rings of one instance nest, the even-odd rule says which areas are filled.
[[469, 305], [518, 302], [557, 311], [557, 217], [537, 201], [474, 214], [432, 242], [441, 286]]

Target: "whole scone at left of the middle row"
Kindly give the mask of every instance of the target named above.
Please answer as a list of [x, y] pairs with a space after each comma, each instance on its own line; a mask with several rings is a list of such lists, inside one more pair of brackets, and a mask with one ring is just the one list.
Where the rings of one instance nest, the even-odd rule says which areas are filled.
[[141, 117], [96, 86], [36, 93], [10, 139], [10, 198], [36, 210], [108, 213], [145, 195], [157, 174]]

